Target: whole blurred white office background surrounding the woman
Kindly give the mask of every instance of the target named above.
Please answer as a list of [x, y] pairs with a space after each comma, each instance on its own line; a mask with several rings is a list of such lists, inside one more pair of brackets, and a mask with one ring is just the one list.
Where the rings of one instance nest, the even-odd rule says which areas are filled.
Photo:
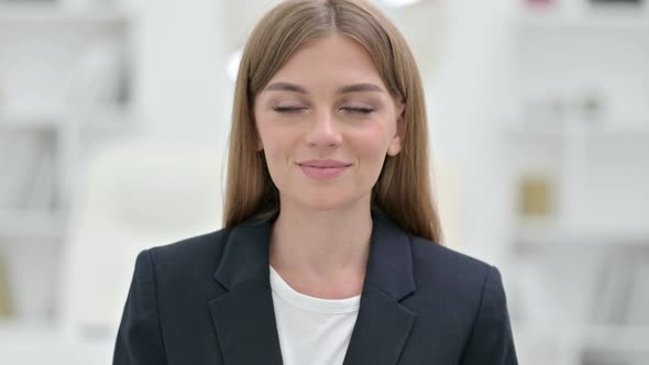
[[[0, 363], [108, 364], [135, 255], [220, 229], [233, 78], [277, 0], [0, 0]], [[446, 244], [520, 364], [648, 364], [644, 0], [376, 0], [426, 87]]]

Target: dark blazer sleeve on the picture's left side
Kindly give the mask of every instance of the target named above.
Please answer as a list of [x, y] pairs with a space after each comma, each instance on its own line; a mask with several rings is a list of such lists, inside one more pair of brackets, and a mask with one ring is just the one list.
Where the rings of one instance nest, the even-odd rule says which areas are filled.
[[167, 364], [160, 328], [154, 263], [148, 250], [135, 261], [118, 330], [113, 365]]

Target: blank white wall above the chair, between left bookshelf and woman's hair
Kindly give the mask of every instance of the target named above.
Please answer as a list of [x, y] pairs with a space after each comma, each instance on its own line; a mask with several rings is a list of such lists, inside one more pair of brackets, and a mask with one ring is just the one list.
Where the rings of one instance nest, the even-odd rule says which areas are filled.
[[221, 1], [151, 1], [139, 16], [135, 92], [155, 139], [227, 140], [232, 100]]

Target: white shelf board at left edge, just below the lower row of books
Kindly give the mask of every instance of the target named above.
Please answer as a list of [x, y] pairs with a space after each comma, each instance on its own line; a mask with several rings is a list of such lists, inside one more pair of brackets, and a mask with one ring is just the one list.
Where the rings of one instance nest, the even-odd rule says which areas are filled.
[[58, 239], [63, 223], [62, 212], [0, 211], [0, 239]]

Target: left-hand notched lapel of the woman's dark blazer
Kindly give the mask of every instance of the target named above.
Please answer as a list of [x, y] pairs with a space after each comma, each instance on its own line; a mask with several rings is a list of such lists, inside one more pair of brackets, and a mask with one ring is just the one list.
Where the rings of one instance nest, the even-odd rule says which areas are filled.
[[229, 291], [209, 302], [224, 364], [282, 364], [268, 283], [268, 223], [230, 233], [215, 279]]

